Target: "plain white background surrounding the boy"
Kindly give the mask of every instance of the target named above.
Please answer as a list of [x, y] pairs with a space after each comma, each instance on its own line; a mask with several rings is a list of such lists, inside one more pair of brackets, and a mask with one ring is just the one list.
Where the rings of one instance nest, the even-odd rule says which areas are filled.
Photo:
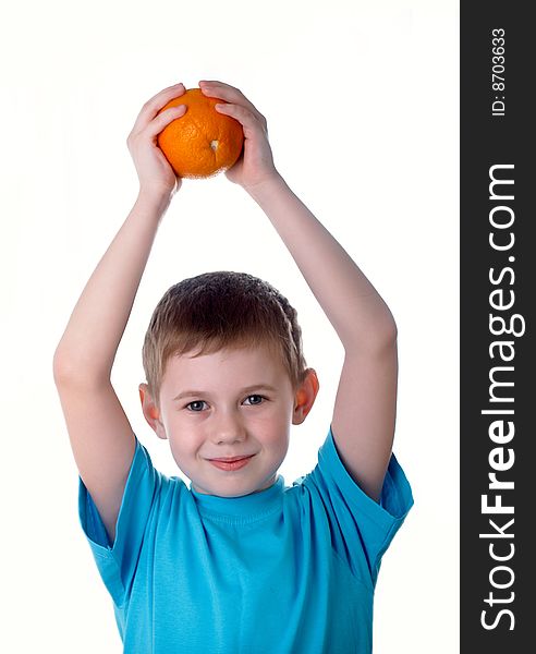
[[[2, 14], [0, 650], [121, 652], [78, 523], [52, 356], [136, 197], [126, 137], [139, 109], [206, 78], [267, 117], [278, 170], [394, 315], [394, 451], [415, 506], [383, 558], [375, 654], [458, 651], [458, 3], [29, 0]], [[267, 279], [299, 312], [320, 393], [292, 427], [280, 470], [291, 485], [327, 435], [342, 346], [266, 216], [224, 175], [185, 180], [173, 198], [112, 383], [156, 467], [179, 474], [142, 414], [142, 342], [171, 284], [217, 269]]]

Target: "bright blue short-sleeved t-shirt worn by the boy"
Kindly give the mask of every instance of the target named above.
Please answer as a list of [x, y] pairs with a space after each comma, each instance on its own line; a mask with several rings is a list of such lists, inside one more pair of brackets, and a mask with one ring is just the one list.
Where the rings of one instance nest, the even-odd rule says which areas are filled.
[[329, 429], [318, 463], [242, 497], [197, 493], [136, 438], [113, 546], [78, 477], [78, 514], [125, 654], [367, 654], [381, 556], [413, 505], [391, 457], [380, 504]]

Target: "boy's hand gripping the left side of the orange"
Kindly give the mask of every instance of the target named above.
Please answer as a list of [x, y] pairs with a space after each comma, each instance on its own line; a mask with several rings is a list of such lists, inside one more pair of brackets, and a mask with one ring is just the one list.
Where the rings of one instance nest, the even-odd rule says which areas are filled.
[[171, 99], [180, 97], [184, 92], [184, 85], [181, 83], [169, 86], [150, 98], [143, 106], [129, 134], [126, 145], [136, 167], [141, 193], [172, 196], [181, 187], [182, 179], [175, 174], [158, 147], [157, 136], [170, 122], [184, 116], [186, 107], [179, 105], [158, 116], [157, 113]]

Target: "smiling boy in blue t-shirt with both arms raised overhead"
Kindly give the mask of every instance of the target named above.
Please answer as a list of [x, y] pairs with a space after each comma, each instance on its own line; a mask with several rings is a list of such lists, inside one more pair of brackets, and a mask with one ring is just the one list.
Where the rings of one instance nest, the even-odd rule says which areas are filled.
[[264, 209], [345, 351], [316, 468], [278, 475], [290, 425], [318, 391], [296, 314], [251, 275], [175, 284], [144, 342], [144, 415], [191, 480], [166, 477], [133, 434], [110, 383], [158, 225], [181, 186], [156, 136], [183, 85], [144, 105], [127, 138], [139, 193], [54, 354], [80, 471], [80, 519], [110, 592], [124, 652], [365, 654], [383, 552], [413, 504], [391, 453], [397, 328], [357, 266], [276, 170], [266, 119], [236, 88], [226, 100], [244, 150], [226, 172]]

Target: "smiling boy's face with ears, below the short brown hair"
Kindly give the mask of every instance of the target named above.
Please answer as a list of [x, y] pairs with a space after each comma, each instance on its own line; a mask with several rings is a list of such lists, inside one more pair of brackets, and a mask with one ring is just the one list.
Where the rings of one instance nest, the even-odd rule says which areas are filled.
[[[280, 358], [267, 347], [174, 356], [160, 388], [160, 414], [149, 424], [169, 439], [194, 491], [247, 495], [275, 483], [290, 425], [303, 422], [318, 389], [314, 371], [307, 379], [294, 392]], [[215, 461], [244, 457], [241, 463]]]

